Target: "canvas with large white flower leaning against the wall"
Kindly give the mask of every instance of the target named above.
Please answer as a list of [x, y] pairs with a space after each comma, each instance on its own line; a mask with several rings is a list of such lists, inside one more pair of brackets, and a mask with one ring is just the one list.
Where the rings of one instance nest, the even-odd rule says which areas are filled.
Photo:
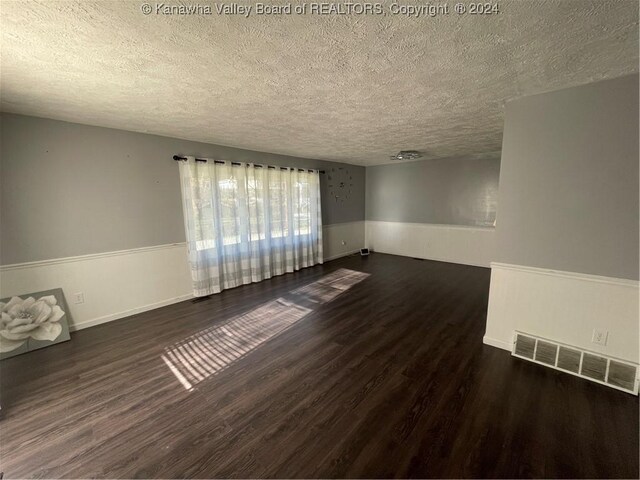
[[0, 300], [0, 359], [70, 340], [61, 288]]

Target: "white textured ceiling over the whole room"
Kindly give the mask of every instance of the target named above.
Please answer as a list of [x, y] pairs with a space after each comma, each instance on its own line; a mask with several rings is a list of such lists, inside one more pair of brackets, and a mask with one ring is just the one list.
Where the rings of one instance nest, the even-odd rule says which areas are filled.
[[387, 3], [385, 15], [248, 18], [166, 3], [214, 11], [1, 1], [0, 108], [372, 165], [399, 150], [498, 151], [505, 100], [638, 71], [636, 0], [503, 0], [498, 15], [432, 18]]

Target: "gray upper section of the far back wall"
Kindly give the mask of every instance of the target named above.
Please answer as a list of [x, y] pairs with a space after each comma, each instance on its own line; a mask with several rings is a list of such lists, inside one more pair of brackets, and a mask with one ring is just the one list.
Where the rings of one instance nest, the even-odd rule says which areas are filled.
[[367, 167], [366, 218], [493, 226], [500, 158], [447, 158]]

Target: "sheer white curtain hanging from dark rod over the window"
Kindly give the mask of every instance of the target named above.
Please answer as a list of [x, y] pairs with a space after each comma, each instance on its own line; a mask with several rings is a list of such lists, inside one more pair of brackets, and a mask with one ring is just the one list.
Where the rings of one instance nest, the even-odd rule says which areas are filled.
[[318, 171], [179, 164], [194, 295], [322, 263]]

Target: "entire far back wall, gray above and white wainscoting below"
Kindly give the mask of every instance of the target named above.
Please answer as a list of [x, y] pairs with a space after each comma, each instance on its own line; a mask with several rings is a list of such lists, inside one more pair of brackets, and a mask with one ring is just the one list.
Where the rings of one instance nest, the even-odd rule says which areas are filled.
[[488, 267], [499, 175], [499, 153], [367, 167], [367, 246]]

